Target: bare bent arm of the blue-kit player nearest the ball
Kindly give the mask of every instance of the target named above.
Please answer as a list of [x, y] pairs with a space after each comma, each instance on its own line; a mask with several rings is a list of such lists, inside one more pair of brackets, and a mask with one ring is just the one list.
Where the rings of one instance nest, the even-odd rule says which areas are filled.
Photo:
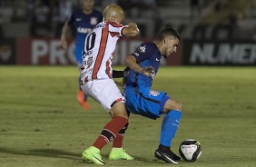
[[143, 68], [140, 64], [137, 64], [136, 59], [133, 55], [128, 55], [127, 57], [125, 57], [124, 62], [129, 66], [130, 69], [133, 69], [135, 72], [145, 74], [147, 76], [151, 76], [151, 73], [153, 72], [152, 66]]

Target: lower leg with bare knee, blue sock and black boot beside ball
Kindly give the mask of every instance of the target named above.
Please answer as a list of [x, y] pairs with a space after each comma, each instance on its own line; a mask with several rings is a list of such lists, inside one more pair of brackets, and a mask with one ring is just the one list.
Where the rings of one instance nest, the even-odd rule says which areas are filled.
[[[181, 158], [171, 151], [171, 145], [182, 116], [182, 104], [165, 96], [162, 98], [162, 106], [162, 113], [166, 114], [162, 120], [160, 145], [155, 152], [155, 156], [165, 162], [177, 163]], [[165, 155], [169, 155], [169, 157]], [[168, 158], [171, 158], [170, 161]]]

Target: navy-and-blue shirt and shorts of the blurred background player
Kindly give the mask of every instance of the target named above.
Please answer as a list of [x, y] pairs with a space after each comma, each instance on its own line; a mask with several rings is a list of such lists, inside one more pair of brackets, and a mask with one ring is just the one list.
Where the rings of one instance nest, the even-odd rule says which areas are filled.
[[75, 31], [75, 58], [82, 64], [82, 54], [84, 51], [84, 40], [87, 34], [91, 33], [95, 25], [103, 21], [102, 13], [93, 10], [90, 15], [86, 15], [83, 9], [74, 11], [68, 20], [68, 25], [74, 27]]

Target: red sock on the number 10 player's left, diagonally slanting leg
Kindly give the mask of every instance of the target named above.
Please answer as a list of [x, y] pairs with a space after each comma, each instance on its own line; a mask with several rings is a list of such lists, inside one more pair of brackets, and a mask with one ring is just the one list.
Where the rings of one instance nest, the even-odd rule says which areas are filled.
[[126, 123], [128, 123], [128, 120], [122, 116], [113, 117], [113, 119], [104, 126], [101, 135], [96, 139], [93, 146], [101, 150], [105, 144], [116, 138], [118, 132], [120, 132]]

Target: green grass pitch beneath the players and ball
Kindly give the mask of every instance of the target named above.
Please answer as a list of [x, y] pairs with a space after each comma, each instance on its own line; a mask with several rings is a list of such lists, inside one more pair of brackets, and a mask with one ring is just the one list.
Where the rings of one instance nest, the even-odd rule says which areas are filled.
[[[114, 67], [123, 69], [123, 67]], [[0, 166], [84, 167], [81, 153], [110, 117], [93, 99], [91, 111], [76, 101], [75, 66], [0, 66]], [[183, 103], [172, 150], [185, 139], [202, 144], [197, 162], [177, 167], [254, 167], [256, 165], [256, 68], [162, 67], [153, 90]], [[107, 166], [169, 166], [156, 160], [162, 117], [131, 115], [123, 147], [134, 161], [107, 160]]]

